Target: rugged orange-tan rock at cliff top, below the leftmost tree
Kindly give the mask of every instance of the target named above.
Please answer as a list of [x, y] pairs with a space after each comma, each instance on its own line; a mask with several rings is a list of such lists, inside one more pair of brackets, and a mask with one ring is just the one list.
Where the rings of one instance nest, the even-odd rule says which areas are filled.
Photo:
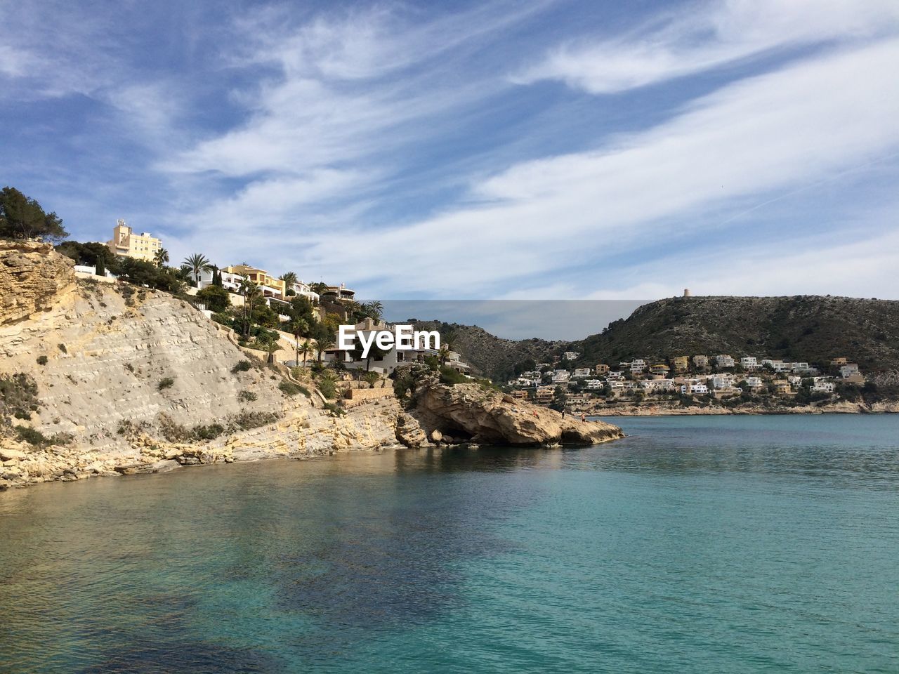
[[74, 288], [74, 262], [52, 245], [0, 241], [0, 324], [47, 309]]

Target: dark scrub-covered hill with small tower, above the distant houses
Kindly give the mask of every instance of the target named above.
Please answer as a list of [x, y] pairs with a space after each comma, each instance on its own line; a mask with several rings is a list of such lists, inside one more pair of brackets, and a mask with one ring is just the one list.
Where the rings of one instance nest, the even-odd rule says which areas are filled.
[[673, 297], [574, 341], [579, 364], [718, 353], [899, 368], [899, 302], [855, 297]]

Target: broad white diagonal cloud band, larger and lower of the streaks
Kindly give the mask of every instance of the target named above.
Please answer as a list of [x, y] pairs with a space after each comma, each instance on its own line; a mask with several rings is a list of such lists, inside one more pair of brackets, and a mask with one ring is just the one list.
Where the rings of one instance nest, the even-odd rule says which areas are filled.
[[354, 237], [343, 250], [386, 296], [410, 276], [443, 297], [497, 297], [519, 277], [620, 267], [620, 255], [639, 256], [674, 219], [682, 228], [691, 213], [895, 153], [896, 63], [899, 40], [842, 51], [727, 86], [601, 150], [514, 165], [473, 186], [480, 205], [365, 239], [371, 259], [416, 253], [400, 278], [366, 265]]

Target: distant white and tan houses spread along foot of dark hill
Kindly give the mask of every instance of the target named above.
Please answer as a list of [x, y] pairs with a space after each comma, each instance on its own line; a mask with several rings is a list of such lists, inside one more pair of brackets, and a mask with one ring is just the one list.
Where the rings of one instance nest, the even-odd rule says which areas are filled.
[[[578, 359], [569, 351], [561, 361]], [[556, 390], [566, 391], [566, 403], [572, 408], [606, 399], [646, 395], [709, 395], [718, 399], [744, 392], [761, 395], [796, 395], [802, 386], [816, 394], [832, 395], [837, 382], [863, 384], [859, 366], [846, 358], [835, 358], [823, 374], [807, 362], [734, 358], [728, 354], [674, 356], [667, 362], [634, 359], [620, 362], [616, 368], [600, 363], [593, 368], [565, 368], [539, 363], [538, 369], [523, 372], [512, 379], [512, 395], [532, 398], [538, 404], [550, 404]]]

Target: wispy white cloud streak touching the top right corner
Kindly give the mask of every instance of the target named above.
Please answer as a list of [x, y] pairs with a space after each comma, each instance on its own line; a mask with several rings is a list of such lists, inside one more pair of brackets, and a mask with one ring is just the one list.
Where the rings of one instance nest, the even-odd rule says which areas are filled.
[[897, 28], [893, 0], [717, 0], [688, 5], [661, 26], [653, 22], [623, 38], [565, 44], [513, 80], [617, 93], [776, 50], [870, 39]]

